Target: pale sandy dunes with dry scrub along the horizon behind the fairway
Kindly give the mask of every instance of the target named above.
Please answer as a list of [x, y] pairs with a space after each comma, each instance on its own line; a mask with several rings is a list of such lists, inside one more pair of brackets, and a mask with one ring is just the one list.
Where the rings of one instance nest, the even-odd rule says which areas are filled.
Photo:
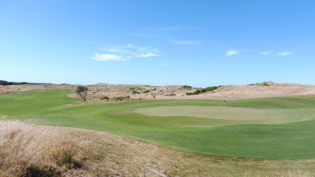
[[[130, 96], [130, 99], [200, 99], [200, 100], [239, 100], [259, 97], [274, 97], [274, 96], [289, 96], [289, 95], [315, 95], [315, 85], [300, 85], [291, 83], [275, 83], [266, 82], [269, 86], [262, 84], [254, 84], [252, 86], [223, 86], [214, 91], [202, 93], [199, 95], [187, 96], [186, 92], [193, 92], [196, 89], [184, 89], [183, 86], [145, 86], [145, 85], [110, 85], [96, 84], [88, 86], [88, 99], [98, 102], [103, 96], [110, 98], [116, 96]], [[77, 85], [40, 85], [40, 86], [0, 86], [0, 94], [24, 91], [32, 89], [72, 89], [75, 90]], [[141, 87], [140, 89], [127, 89], [124, 87]], [[153, 91], [156, 94], [154, 98], [152, 93], [143, 93], [146, 89], [156, 89]], [[132, 93], [133, 91], [138, 93]], [[173, 96], [169, 96], [173, 94]], [[175, 95], [174, 95], [175, 94]], [[70, 94], [68, 97], [78, 98], [76, 94]]]

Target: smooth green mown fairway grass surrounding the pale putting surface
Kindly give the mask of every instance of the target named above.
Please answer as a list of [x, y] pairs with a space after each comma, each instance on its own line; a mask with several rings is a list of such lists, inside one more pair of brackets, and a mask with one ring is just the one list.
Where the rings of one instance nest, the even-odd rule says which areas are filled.
[[[161, 117], [136, 113], [143, 108], [165, 106], [222, 108], [222, 101], [139, 100], [63, 106], [79, 101], [65, 96], [70, 93], [66, 89], [51, 89], [1, 95], [0, 114], [33, 119], [39, 124], [105, 131], [200, 153], [259, 158], [315, 157], [315, 115], [312, 116], [315, 96], [259, 98], [225, 104], [226, 113], [229, 108], [236, 111], [239, 108], [244, 113], [247, 109], [261, 111], [268, 118], [266, 122], [255, 118]], [[279, 119], [289, 119], [289, 123]]]

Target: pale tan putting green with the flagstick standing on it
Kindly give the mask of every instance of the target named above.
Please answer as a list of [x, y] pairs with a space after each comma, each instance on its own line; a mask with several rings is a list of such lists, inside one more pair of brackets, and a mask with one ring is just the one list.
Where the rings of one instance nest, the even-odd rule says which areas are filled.
[[[139, 108], [134, 113], [158, 117], [196, 117], [224, 120], [256, 120], [257, 123], [286, 123], [314, 118], [315, 109], [255, 109], [219, 106], [159, 106]], [[303, 114], [303, 117], [300, 115]]]

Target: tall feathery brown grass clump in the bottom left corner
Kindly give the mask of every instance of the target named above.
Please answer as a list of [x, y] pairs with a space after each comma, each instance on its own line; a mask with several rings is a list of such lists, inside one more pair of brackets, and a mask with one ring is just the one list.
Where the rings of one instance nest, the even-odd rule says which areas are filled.
[[0, 177], [61, 176], [81, 167], [86, 147], [66, 132], [0, 120]]

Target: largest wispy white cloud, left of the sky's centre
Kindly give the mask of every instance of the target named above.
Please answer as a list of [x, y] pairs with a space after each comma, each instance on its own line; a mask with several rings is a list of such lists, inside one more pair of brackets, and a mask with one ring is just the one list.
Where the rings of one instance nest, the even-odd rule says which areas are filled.
[[106, 51], [106, 54], [95, 53], [92, 59], [97, 61], [126, 61], [133, 57], [148, 58], [161, 55], [158, 49], [133, 46], [131, 44], [125, 46], [109, 46], [108, 48], [102, 48], [102, 50]]

